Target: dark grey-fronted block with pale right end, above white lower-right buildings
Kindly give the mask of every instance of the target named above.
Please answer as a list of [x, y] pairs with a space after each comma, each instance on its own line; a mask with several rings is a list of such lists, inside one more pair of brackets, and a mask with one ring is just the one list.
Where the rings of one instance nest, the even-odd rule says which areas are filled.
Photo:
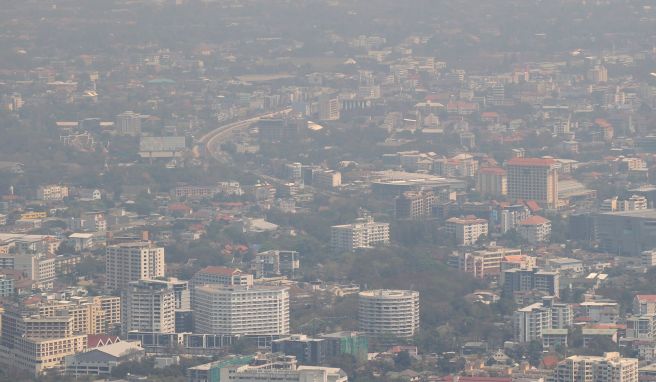
[[560, 274], [540, 268], [513, 268], [503, 272], [503, 291], [512, 295], [516, 292], [538, 292], [547, 296], [560, 295]]

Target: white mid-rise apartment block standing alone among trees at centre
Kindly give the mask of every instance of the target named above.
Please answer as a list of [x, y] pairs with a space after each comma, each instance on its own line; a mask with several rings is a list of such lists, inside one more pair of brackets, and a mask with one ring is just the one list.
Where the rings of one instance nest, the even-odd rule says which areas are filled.
[[351, 252], [358, 248], [388, 245], [389, 242], [389, 223], [376, 223], [373, 218], [331, 227], [330, 245], [334, 252]]

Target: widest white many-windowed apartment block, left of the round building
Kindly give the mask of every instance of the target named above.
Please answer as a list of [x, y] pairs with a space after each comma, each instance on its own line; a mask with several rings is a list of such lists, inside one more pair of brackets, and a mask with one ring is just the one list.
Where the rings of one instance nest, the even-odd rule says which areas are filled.
[[225, 335], [289, 334], [289, 289], [268, 286], [198, 286], [194, 331]]

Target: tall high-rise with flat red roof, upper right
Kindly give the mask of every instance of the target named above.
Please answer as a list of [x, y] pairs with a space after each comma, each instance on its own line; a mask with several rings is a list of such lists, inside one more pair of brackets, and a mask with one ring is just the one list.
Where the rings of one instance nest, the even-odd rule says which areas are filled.
[[513, 158], [506, 165], [508, 196], [535, 200], [547, 208], [558, 207], [558, 171], [555, 160]]

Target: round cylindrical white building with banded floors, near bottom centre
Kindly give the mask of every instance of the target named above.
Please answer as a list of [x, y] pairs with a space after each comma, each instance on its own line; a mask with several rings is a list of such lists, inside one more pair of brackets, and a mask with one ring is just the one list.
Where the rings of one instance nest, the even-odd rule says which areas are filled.
[[419, 292], [362, 291], [358, 294], [358, 320], [367, 335], [412, 337], [419, 330]]

